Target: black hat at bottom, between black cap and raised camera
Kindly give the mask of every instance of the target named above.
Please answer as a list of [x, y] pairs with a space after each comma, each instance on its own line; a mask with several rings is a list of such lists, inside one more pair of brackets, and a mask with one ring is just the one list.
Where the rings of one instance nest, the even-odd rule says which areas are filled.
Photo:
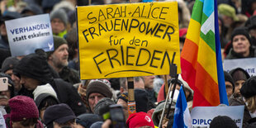
[[102, 121], [101, 117], [96, 114], [85, 113], [77, 117], [77, 124], [83, 127], [90, 127], [93, 123]]

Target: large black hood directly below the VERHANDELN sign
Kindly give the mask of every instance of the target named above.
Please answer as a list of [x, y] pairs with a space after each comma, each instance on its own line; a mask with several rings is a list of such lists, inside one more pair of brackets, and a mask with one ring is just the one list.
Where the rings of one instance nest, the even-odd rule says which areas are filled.
[[21, 59], [13, 69], [13, 73], [34, 78], [41, 83], [49, 83], [52, 79], [50, 65], [44, 57], [36, 54], [26, 55]]

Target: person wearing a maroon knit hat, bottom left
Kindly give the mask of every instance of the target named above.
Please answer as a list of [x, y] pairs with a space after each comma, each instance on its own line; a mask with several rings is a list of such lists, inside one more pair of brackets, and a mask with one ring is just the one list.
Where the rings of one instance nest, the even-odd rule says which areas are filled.
[[17, 96], [9, 101], [10, 115], [6, 118], [7, 128], [35, 127], [43, 128], [39, 119], [36, 103], [31, 97]]

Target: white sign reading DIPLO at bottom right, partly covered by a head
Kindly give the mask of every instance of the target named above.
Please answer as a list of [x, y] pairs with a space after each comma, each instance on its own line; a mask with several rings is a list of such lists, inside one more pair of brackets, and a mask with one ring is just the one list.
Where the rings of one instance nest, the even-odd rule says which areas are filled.
[[229, 116], [239, 128], [243, 126], [244, 106], [194, 107], [191, 111], [193, 127], [209, 127], [216, 116]]

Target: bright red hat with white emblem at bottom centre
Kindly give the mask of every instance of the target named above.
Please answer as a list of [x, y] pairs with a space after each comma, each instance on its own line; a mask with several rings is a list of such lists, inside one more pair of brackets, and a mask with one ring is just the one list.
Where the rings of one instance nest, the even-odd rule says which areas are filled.
[[145, 112], [138, 112], [130, 114], [126, 121], [126, 125], [132, 128], [140, 126], [152, 126], [154, 128], [154, 122], [151, 117]]

